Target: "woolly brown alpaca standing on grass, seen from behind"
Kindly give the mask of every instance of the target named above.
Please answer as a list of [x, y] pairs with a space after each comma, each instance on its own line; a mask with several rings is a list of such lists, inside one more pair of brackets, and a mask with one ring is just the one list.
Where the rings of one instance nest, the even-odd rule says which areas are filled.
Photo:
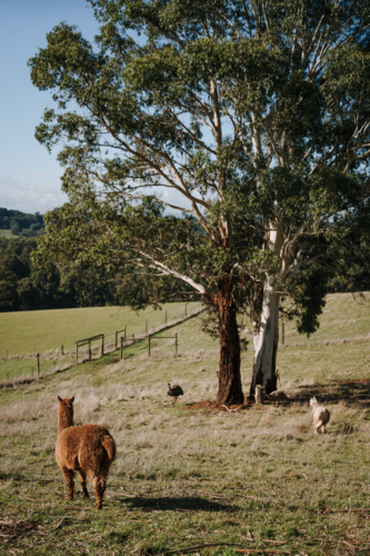
[[100, 425], [73, 426], [73, 399], [59, 399], [58, 440], [56, 459], [68, 486], [68, 499], [73, 499], [74, 471], [79, 471], [83, 497], [89, 498], [86, 478], [96, 489], [97, 506], [101, 509], [106, 479], [116, 458], [116, 444], [107, 428]]

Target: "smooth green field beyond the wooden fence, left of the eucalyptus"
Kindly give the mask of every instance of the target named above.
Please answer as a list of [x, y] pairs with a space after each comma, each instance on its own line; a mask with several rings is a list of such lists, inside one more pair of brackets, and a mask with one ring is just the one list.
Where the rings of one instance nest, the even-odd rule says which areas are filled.
[[[128, 307], [97, 307], [87, 309], [62, 309], [50, 311], [24, 311], [2, 314], [0, 320], [0, 381], [30, 378], [37, 375], [37, 354], [40, 354], [40, 373], [49, 374], [64, 369], [76, 363], [77, 339], [104, 334], [104, 349], [114, 349], [116, 332], [126, 326], [127, 338], [138, 337], [148, 330], [158, 329], [167, 321], [183, 317], [199, 308], [198, 302], [167, 304], [162, 310], [148, 308], [139, 315]], [[118, 344], [121, 331], [118, 335]], [[72, 338], [72, 340], [71, 340]], [[24, 339], [24, 340], [23, 340]], [[62, 340], [59, 344], [59, 340]], [[22, 341], [23, 340], [23, 341]], [[32, 348], [31, 348], [32, 345]], [[4, 348], [11, 346], [12, 349]], [[61, 350], [63, 346], [63, 351]], [[100, 353], [101, 339], [91, 342], [92, 357]], [[2, 357], [1, 357], [2, 355]], [[88, 358], [88, 346], [79, 351], [79, 361]]]

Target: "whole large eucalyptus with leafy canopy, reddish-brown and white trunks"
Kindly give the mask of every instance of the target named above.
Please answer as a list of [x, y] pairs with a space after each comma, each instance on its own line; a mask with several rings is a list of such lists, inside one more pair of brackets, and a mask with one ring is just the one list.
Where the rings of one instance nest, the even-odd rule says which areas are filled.
[[37, 138], [62, 145], [70, 196], [40, 252], [126, 262], [201, 294], [219, 319], [222, 404], [243, 401], [248, 300], [252, 389], [271, 391], [281, 296], [313, 331], [336, 249], [367, 242], [370, 4], [90, 3], [94, 47], [61, 23], [29, 61], [58, 103]]

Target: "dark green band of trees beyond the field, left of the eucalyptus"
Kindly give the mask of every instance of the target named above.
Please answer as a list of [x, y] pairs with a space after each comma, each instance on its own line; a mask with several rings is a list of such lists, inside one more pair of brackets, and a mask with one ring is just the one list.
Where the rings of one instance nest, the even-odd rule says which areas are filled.
[[132, 300], [140, 306], [153, 296], [159, 301], [163, 296], [173, 301], [187, 299], [187, 289], [181, 286], [184, 291], [178, 294], [174, 280], [153, 282], [134, 269], [102, 274], [73, 264], [61, 269], [54, 265], [32, 268], [30, 255], [36, 245], [31, 238], [0, 238], [0, 312], [132, 305]]

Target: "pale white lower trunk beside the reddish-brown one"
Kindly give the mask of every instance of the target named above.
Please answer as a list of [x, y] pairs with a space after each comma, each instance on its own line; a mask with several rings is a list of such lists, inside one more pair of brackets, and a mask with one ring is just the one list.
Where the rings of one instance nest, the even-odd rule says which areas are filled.
[[280, 295], [269, 284], [264, 285], [262, 317], [259, 336], [254, 336], [254, 364], [250, 398], [257, 385], [264, 386], [266, 394], [277, 389], [277, 353], [279, 342]]

